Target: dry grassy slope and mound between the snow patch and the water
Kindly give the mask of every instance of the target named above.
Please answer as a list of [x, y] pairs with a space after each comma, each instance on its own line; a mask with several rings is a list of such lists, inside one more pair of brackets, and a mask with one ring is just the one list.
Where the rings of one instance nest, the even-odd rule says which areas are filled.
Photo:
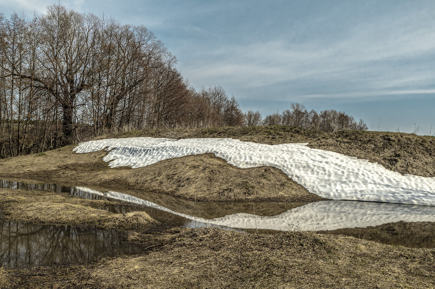
[[275, 167], [238, 168], [214, 154], [190, 155], [147, 167], [110, 168], [107, 151], [76, 154], [73, 147], [0, 160], [0, 176], [73, 185], [151, 190], [197, 201], [325, 200], [309, 193]]

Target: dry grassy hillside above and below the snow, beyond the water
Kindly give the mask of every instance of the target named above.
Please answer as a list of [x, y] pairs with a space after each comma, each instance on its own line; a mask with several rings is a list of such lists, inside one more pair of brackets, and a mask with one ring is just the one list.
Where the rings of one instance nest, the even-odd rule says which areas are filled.
[[[286, 126], [130, 131], [116, 137], [238, 138], [267, 144], [308, 142], [311, 148], [335, 151], [400, 173], [435, 176], [435, 138], [404, 133], [338, 131], [325, 133]], [[111, 136], [113, 137], [113, 136]], [[241, 169], [213, 154], [164, 160], [147, 167], [110, 168], [106, 151], [75, 154], [64, 147], [0, 160], [0, 176], [67, 184], [151, 190], [197, 201], [321, 200], [274, 167]]]

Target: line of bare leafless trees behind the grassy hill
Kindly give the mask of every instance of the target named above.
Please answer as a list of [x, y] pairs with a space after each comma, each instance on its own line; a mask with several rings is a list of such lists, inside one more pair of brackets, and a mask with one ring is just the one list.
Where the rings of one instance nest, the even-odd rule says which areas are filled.
[[113, 130], [294, 125], [367, 129], [303, 105], [261, 118], [220, 85], [195, 90], [145, 26], [57, 4], [28, 19], [0, 14], [0, 158], [47, 151]]

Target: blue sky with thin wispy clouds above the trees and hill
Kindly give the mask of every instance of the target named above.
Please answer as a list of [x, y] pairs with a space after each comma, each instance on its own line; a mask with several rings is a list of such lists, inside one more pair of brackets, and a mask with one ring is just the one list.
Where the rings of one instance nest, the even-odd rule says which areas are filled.
[[[0, 0], [32, 17], [49, 0]], [[299, 102], [373, 131], [435, 134], [433, 0], [65, 0], [144, 25], [197, 90], [221, 85], [263, 117]], [[432, 127], [433, 125], [433, 127]]]

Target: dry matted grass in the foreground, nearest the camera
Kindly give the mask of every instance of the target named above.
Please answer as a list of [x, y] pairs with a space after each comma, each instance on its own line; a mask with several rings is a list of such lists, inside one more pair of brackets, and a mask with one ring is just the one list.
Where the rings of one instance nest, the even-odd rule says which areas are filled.
[[[435, 251], [352, 237], [175, 228], [149, 251], [83, 266], [3, 269], [5, 288], [434, 288]], [[3, 281], [3, 284], [5, 281]]]

